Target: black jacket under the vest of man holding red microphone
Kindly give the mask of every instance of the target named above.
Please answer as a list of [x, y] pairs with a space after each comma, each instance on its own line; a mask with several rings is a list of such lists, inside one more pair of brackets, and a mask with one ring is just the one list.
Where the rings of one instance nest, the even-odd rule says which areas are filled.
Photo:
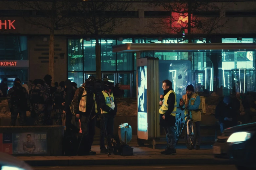
[[[170, 91], [171, 89], [167, 89], [164, 91], [164, 96]], [[160, 114], [160, 125], [162, 126], [175, 126], [175, 116], [172, 116], [171, 113], [174, 110], [174, 104], [175, 104], [175, 95], [174, 93], [171, 93], [168, 97], [167, 100], [167, 104], [168, 106], [168, 110], [167, 112], [164, 114], [165, 116], [165, 120], [163, 119], [163, 115]]]

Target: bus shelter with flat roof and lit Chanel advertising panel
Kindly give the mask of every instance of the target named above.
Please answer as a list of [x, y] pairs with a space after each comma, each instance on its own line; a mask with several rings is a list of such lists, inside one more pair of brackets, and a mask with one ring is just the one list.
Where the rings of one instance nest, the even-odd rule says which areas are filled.
[[256, 92], [256, 43], [129, 43], [113, 46], [113, 52], [136, 56], [137, 138], [154, 148], [161, 137], [162, 80], [172, 81], [177, 105], [189, 84], [197, 92], [222, 89], [222, 95]]

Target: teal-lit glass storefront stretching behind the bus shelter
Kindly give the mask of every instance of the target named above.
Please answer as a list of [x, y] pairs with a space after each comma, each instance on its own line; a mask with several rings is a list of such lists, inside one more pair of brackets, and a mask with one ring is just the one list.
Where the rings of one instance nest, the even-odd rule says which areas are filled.
[[[87, 39], [88, 40], [88, 39]], [[81, 86], [90, 75], [96, 75], [95, 40], [68, 39], [68, 78]], [[194, 43], [210, 43], [206, 39], [194, 39]], [[222, 38], [222, 43], [254, 43], [255, 38]], [[125, 97], [136, 96], [136, 52], [112, 52], [115, 45], [126, 43], [187, 43], [180, 39], [101, 39], [101, 70], [103, 75], [120, 83], [130, 85], [130, 90], [125, 90]], [[188, 60], [192, 58], [191, 75], [197, 92], [222, 91], [223, 95], [232, 92], [255, 92], [255, 51], [194, 51], [194, 52], [155, 52], [141, 53], [140, 57], [157, 57], [159, 60]], [[218, 63], [214, 58], [219, 58]], [[173, 65], [174, 66], [174, 65]], [[216, 70], [218, 69], [218, 72]], [[170, 68], [171, 81], [178, 80], [182, 75]], [[217, 75], [216, 75], [217, 74]], [[173, 79], [174, 78], [174, 79]], [[217, 79], [217, 81], [216, 81]], [[175, 89], [185, 87], [187, 84], [178, 85]], [[217, 83], [217, 84], [216, 84]]]

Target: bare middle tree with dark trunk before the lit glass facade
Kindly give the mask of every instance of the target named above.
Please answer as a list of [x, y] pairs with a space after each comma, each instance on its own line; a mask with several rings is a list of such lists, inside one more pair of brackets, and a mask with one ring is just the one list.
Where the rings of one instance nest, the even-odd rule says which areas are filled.
[[118, 28], [127, 21], [123, 18], [131, 10], [131, 3], [117, 0], [88, 0], [76, 2], [73, 18], [75, 33], [96, 39], [96, 75], [101, 78], [101, 53], [99, 39], [103, 35], [117, 34]]

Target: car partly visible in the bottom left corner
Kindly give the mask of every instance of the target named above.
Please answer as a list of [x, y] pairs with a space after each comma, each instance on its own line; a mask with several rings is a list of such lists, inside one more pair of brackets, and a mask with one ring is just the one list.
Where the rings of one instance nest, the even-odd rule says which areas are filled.
[[0, 152], [0, 170], [33, 170], [27, 163], [18, 158]]

